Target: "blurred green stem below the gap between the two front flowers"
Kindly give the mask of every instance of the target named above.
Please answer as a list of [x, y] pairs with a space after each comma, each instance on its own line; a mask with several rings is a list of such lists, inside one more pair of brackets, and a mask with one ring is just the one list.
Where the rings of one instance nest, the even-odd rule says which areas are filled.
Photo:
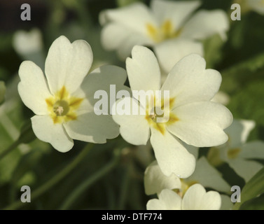
[[107, 173], [109, 173], [116, 165], [117, 162], [120, 158], [120, 151], [114, 151], [115, 155], [114, 158], [111, 162], [109, 162], [106, 166], [102, 167], [102, 169], [99, 169], [98, 172], [96, 172], [95, 174], [93, 174], [92, 176], [90, 176], [87, 180], [85, 180], [83, 183], [81, 183], [80, 186], [78, 186], [78, 188], [76, 188], [74, 190], [73, 193], [71, 193], [71, 195], [69, 195], [69, 197], [67, 197], [66, 200], [64, 200], [64, 202], [62, 203], [62, 206], [60, 207], [60, 209], [69, 209], [69, 207], [71, 207], [71, 204], [73, 204], [78, 197], [85, 191], [88, 189], [89, 186], [91, 186], [93, 183], [95, 183], [96, 181], [98, 181], [99, 179], [101, 179], [104, 175], [106, 175]]

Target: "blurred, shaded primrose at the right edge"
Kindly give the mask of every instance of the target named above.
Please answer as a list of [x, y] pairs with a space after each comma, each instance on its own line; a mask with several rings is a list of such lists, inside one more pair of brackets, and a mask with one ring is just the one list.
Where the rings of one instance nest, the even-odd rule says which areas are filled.
[[229, 137], [228, 141], [217, 147], [221, 160], [227, 162], [246, 182], [263, 167], [253, 159], [264, 159], [264, 142], [246, 143], [254, 127], [253, 120], [234, 120], [232, 125], [225, 130]]

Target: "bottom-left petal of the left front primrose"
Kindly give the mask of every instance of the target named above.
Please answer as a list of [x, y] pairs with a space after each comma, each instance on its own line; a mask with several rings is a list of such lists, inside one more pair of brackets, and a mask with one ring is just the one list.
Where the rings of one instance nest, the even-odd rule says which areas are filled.
[[50, 143], [57, 151], [65, 153], [74, 146], [74, 141], [64, 127], [61, 124], [54, 124], [50, 116], [34, 116], [32, 129], [38, 139]]

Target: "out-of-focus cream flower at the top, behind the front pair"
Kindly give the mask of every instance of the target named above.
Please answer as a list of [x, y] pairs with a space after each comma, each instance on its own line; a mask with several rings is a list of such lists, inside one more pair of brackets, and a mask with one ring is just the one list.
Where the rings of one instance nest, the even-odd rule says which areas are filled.
[[223, 10], [199, 10], [200, 1], [152, 0], [151, 8], [137, 2], [123, 8], [104, 10], [99, 15], [102, 45], [117, 50], [118, 56], [130, 56], [134, 45], [154, 49], [162, 69], [170, 71], [174, 64], [190, 53], [203, 55], [202, 43], [213, 34], [225, 38], [229, 28]]

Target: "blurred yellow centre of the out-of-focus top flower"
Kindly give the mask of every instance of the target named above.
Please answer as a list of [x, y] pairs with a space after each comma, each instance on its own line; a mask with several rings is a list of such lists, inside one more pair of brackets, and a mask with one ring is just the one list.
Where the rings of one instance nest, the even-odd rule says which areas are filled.
[[147, 23], [146, 30], [148, 36], [150, 36], [155, 43], [160, 43], [170, 38], [176, 38], [181, 34], [181, 29], [175, 30], [170, 20], [165, 20], [160, 27]]

